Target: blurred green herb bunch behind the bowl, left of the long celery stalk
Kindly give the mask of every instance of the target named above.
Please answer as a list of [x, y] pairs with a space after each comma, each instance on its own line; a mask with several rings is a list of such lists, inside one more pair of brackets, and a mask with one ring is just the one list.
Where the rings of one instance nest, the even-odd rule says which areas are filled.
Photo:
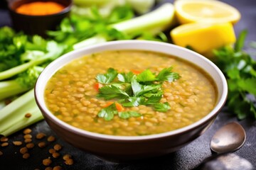
[[102, 35], [107, 39], [127, 39], [122, 33], [109, 28], [108, 25], [118, 23], [134, 17], [130, 6], [118, 6], [107, 17], [102, 17], [96, 6], [91, 8], [92, 16], [78, 16], [72, 13], [69, 18], [64, 18], [58, 30], [48, 30], [48, 35], [53, 40], [68, 45], [68, 51], [73, 50], [75, 43]]

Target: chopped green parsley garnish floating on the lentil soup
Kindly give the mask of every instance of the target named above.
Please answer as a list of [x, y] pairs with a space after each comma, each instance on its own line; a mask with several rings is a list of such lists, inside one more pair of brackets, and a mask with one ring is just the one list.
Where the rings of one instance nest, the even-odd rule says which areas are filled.
[[[171, 82], [180, 78], [178, 73], [171, 72], [172, 69], [172, 67], [164, 68], [159, 74], [145, 69], [140, 74], [134, 74], [118, 73], [116, 69], [109, 68], [107, 73], [96, 76], [97, 82], [102, 84], [97, 97], [107, 101], [116, 99], [124, 107], [144, 105], [152, 106], [155, 111], [166, 112], [171, 107], [168, 102], [160, 102], [164, 93], [162, 84], [164, 81]], [[135, 111], [119, 112], [114, 103], [98, 113], [98, 116], [105, 120], [112, 120], [114, 115], [124, 119], [141, 116]]]

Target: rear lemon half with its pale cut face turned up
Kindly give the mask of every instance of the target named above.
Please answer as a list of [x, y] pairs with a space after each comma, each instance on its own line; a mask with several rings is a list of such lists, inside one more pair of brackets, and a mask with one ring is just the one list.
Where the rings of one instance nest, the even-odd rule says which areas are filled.
[[222, 1], [215, 0], [176, 0], [176, 16], [180, 23], [237, 23], [240, 12]]

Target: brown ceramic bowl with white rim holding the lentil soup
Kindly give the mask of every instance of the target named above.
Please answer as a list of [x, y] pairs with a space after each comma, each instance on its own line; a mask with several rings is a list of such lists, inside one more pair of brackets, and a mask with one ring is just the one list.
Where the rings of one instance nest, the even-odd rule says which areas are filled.
[[[105, 50], [149, 50], [154, 52], [162, 52], [168, 55], [174, 55], [183, 60], [187, 60], [196, 66], [201, 67], [208, 72], [213, 78], [218, 90], [218, 100], [213, 111], [208, 113], [204, 118], [196, 123], [188, 125], [178, 130], [163, 132], [156, 135], [146, 136], [113, 136], [102, 135], [94, 132], [88, 132], [75, 128], [62, 120], [55, 117], [48, 108], [43, 98], [44, 89], [47, 81], [55, 74], [58, 69], [68, 62], [94, 52], [102, 52]], [[46, 122], [56, 132], [71, 145], [78, 147], [86, 152], [97, 155], [107, 160], [115, 162], [129, 161], [133, 159], [144, 159], [148, 157], [156, 157], [163, 154], [174, 152], [177, 149], [188, 144], [196, 137], [200, 136], [207, 130], [215, 120], [220, 109], [224, 106], [228, 95], [228, 85], [223, 73], [218, 67], [210, 62], [206, 57], [183, 47], [171, 45], [165, 42], [154, 42], [145, 40], [122, 40], [114, 42], [105, 42], [100, 45], [85, 47], [63, 55], [53, 61], [43, 70], [38, 81], [36, 82], [35, 96], [36, 103], [41, 109]]]

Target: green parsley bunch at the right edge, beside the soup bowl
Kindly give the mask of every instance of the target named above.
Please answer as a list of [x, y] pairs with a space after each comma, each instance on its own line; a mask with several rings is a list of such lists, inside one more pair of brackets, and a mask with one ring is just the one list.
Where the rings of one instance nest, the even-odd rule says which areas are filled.
[[248, 116], [256, 119], [256, 61], [242, 50], [246, 35], [243, 30], [234, 47], [215, 50], [215, 63], [228, 81], [228, 109], [239, 119]]

